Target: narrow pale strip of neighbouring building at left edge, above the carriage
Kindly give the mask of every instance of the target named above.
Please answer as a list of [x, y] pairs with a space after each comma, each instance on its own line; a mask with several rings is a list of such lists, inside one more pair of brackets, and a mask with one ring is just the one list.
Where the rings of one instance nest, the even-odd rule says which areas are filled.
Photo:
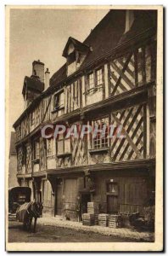
[[16, 134], [11, 132], [10, 136], [10, 151], [9, 151], [9, 166], [8, 166], [8, 187], [18, 186], [17, 179], [17, 154], [16, 154]]

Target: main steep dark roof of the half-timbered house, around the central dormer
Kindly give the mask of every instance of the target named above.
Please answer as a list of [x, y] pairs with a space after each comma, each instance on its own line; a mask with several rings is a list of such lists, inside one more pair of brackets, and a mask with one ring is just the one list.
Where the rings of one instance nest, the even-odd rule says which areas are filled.
[[[132, 28], [125, 34], [126, 10], [110, 10], [84, 40], [83, 44], [91, 46], [92, 51], [89, 51], [79, 70], [89, 66], [92, 62], [104, 57], [104, 55], [108, 55], [115, 47], [126, 43], [126, 41], [136, 37], [137, 34], [146, 31], [148, 28], [156, 27], [156, 14], [157, 11], [155, 10], [135, 10], [135, 20]], [[73, 39], [74, 44], [81, 43], [75, 38], [69, 39]], [[65, 78], [66, 63], [59, 71], [53, 74], [50, 84], [59, 84]]]

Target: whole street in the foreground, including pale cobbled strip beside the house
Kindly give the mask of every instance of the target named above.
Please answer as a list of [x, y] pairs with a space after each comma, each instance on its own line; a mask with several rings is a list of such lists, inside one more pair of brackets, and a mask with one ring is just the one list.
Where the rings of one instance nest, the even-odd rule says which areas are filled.
[[22, 230], [22, 224], [9, 221], [9, 242], [119, 242], [154, 241], [154, 234], [129, 229], [111, 229], [83, 226], [81, 223], [59, 218], [43, 217], [37, 220], [36, 233]]

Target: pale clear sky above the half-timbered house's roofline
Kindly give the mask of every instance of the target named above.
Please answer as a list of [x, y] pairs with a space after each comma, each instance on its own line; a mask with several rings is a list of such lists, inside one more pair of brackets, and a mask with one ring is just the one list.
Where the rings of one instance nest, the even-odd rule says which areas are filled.
[[49, 68], [50, 77], [61, 67], [69, 37], [84, 41], [108, 9], [11, 9], [9, 21], [9, 131], [24, 110], [22, 87], [31, 76], [32, 61]]

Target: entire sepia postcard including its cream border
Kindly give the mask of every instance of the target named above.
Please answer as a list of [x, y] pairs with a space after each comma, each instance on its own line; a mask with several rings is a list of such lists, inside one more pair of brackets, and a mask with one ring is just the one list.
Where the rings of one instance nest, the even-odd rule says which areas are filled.
[[162, 83], [162, 6], [6, 6], [7, 251], [163, 250]]

